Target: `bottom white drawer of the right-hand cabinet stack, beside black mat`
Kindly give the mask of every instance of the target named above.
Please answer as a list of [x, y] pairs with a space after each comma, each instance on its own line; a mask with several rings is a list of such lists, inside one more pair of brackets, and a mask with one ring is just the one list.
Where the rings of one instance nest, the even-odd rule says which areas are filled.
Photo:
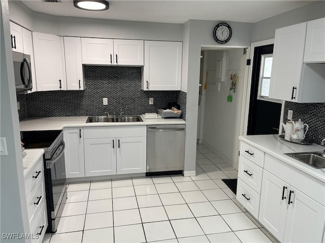
[[259, 195], [239, 178], [237, 181], [236, 199], [239, 200], [247, 211], [250, 212], [256, 219], [258, 218], [259, 200], [261, 199], [261, 195]]

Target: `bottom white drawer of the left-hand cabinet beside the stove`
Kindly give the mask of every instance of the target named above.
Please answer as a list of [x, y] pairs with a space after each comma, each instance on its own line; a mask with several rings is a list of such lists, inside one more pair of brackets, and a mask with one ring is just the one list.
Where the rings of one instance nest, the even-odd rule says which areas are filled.
[[42, 242], [47, 226], [48, 223], [47, 223], [46, 204], [43, 204], [40, 213], [37, 216], [36, 222], [30, 230], [30, 233], [33, 236], [31, 239], [32, 243]]

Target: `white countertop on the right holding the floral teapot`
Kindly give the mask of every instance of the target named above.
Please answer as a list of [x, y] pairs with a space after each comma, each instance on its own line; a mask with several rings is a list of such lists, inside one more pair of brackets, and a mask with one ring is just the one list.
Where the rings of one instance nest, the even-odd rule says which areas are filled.
[[262, 151], [270, 154], [277, 159], [282, 160], [284, 163], [301, 170], [308, 175], [325, 182], [325, 169], [316, 169], [305, 163], [291, 158], [283, 153], [298, 153], [298, 152], [323, 152], [324, 147], [312, 144], [312, 145], [300, 145], [296, 143], [287, 142], [278, 135], [250, 135], [240, 136], [239, 139], [246, 142]]

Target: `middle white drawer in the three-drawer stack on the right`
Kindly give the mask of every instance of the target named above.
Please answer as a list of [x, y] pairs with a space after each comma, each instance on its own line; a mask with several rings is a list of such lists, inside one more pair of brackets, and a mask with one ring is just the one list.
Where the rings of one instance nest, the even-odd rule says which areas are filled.
[[249, 159], [239, 156], [238, 177], [247, 185], [261, 194], [263, 168], [252, 163]]

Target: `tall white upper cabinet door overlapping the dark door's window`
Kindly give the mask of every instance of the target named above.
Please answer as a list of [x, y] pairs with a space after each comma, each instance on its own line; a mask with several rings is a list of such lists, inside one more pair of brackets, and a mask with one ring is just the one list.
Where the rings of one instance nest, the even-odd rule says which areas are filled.
[[269, 97], [297, 102], [303, 67], [307, 23], [275, 31]]

